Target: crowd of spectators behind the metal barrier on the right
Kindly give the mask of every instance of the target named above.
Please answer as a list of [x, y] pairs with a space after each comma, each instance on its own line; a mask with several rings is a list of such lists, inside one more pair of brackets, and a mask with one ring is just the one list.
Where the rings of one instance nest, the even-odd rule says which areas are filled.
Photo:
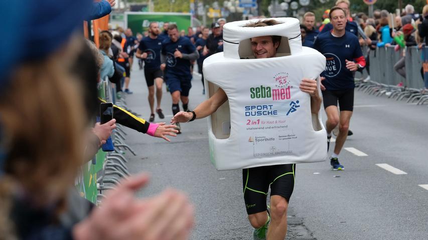
[[[349, 12], [350, 5], [348, 0], [338, 0], [336, 5], [345, 3], [341, 7], [345, 7]], [[420, 13], [418, 13], [418, 10]], [[394, 63], [394, 70], [401, 75], [403, 78], [406, 77], [405, 73], [405, 47], [417, 46], [419, 49], [424, 47], [428, 42], [428, 5], [425, 5], [423, 9], [414, 9], [411, 4], [407, 4], [401, 11], [400, 15], [391, 14], [385, 9], [375, 9], [373, 16], [369, 17], [368, 14], [363, 12], [350, 13], [348, 14], [348, 23], [355, 22], [360, 27], [361, 31], [358, 32], [360, 39], [360, 45], [367, 47], [365, 69], [368, 72], [368, 76], [363, 79], [364, 81], [370, 80], [370, 50], [375, 50], [377, 47], [394, 47], [395, 51], [400, 52], [401, 58]], [[328, 10], [326, 10], [327, 12]], [[317, 36], [318, 32], [323, 32], [326, 24], [328, 24], [328, 15], [323, 14], [321, 21], [315, 21], [317, 16], [313, 12], [306, 12], [302, 18], [301, 33], [302, 33], [302, 44], [304, 46], [310, 46], [313, 42], [314, 37]], [[348, 25], [347, 23], [347, 25]], [[348, 29], [348, 26], [347, 26]], [[354, 30], [349, 27], [351, 32]], [[354, 32], [357, 34], [357, 32]], [[422, 60], [423, 55], [422, 55]], [[421, 68], [421, 75], [423, 79], [423, 68]], [[402, 85], [403, 83], [399, 83]], [[428, 89], [428, 80], [424, 80], [425, 89]]]

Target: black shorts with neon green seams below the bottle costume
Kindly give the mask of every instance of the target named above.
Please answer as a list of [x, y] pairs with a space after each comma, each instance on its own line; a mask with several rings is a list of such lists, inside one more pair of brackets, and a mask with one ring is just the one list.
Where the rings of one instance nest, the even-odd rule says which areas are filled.
[[258, 166], [242, 169], [242, 184], [247, 213], [254, 214], [267, 209], [266, 196], [280, 195], [290, 201], [294, 189], [296, 164]]

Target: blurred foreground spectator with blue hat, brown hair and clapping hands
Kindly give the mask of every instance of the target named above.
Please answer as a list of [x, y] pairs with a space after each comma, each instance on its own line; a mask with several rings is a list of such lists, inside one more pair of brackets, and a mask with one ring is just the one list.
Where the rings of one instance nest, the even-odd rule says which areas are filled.
[[13, 39], [0, 46], [0, 239], [188, 239], [186, 196], [169, 189], [135, 198], [144, 174], [123, 181], [80, 222], [60, 219], [89, 124], [88, 89], [74, 72], [84, 41], [73, 32], [81, 32], [90, 3], [12, 1], [0, 9]]

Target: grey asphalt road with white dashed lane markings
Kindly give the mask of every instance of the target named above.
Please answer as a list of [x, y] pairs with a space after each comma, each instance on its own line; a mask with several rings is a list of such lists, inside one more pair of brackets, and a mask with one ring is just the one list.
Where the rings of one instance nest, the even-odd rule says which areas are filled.
[[[205, 99], [196, 74], [192, 85], [190, 109]], [[147, 85], [135, 64], [130, 89], [128, 107], [148, 119]], [[169, 121], [171, 96], [165, 85], [162, 108]], [[329, 162], [297, 165], [287, 239], [428, 239], [428, 190], [419, 186], [428, 184], [426, 105], [356, 91], [351, 128], [354, 135], [345, 147], [357, 151], [342, 150], [344, 171], [332, 171]], [[127, 130], [126, 142], [137, 152], [127, 155], [129, 170], [152, 175], [138, 195], [166, 187], [185, 191], [196, 208], [193, 240], [252, 239], [241, 170], [217, 171], [212, 166], [207, 120], [182, 123], [182, 131], [169, 143]], [[390, 171], [396, 169], [406, 174]]]

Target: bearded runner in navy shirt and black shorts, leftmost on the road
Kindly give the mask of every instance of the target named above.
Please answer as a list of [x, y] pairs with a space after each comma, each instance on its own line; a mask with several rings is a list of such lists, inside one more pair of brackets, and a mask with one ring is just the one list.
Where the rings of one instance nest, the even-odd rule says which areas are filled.
[[146, 77], [147, 87], [149, 88], [149, 104], [150, 104], [150, 118], [149, 121], [155, 120], [155, 82], [156, 82], [156, 112], [159, 118], [163, 119], [164, 113], [161, 109], [162, 99], [162, 83], [164, 82], [164, 73], [161, 70], [161, 50], [162, 41], [164, 40], [159, 36], [159, 24], [152, 21], [149, 24], [149, 36], [141, 39], [138, 45], [136, 57], [142, 58], [145, 61], [144, 76]]

